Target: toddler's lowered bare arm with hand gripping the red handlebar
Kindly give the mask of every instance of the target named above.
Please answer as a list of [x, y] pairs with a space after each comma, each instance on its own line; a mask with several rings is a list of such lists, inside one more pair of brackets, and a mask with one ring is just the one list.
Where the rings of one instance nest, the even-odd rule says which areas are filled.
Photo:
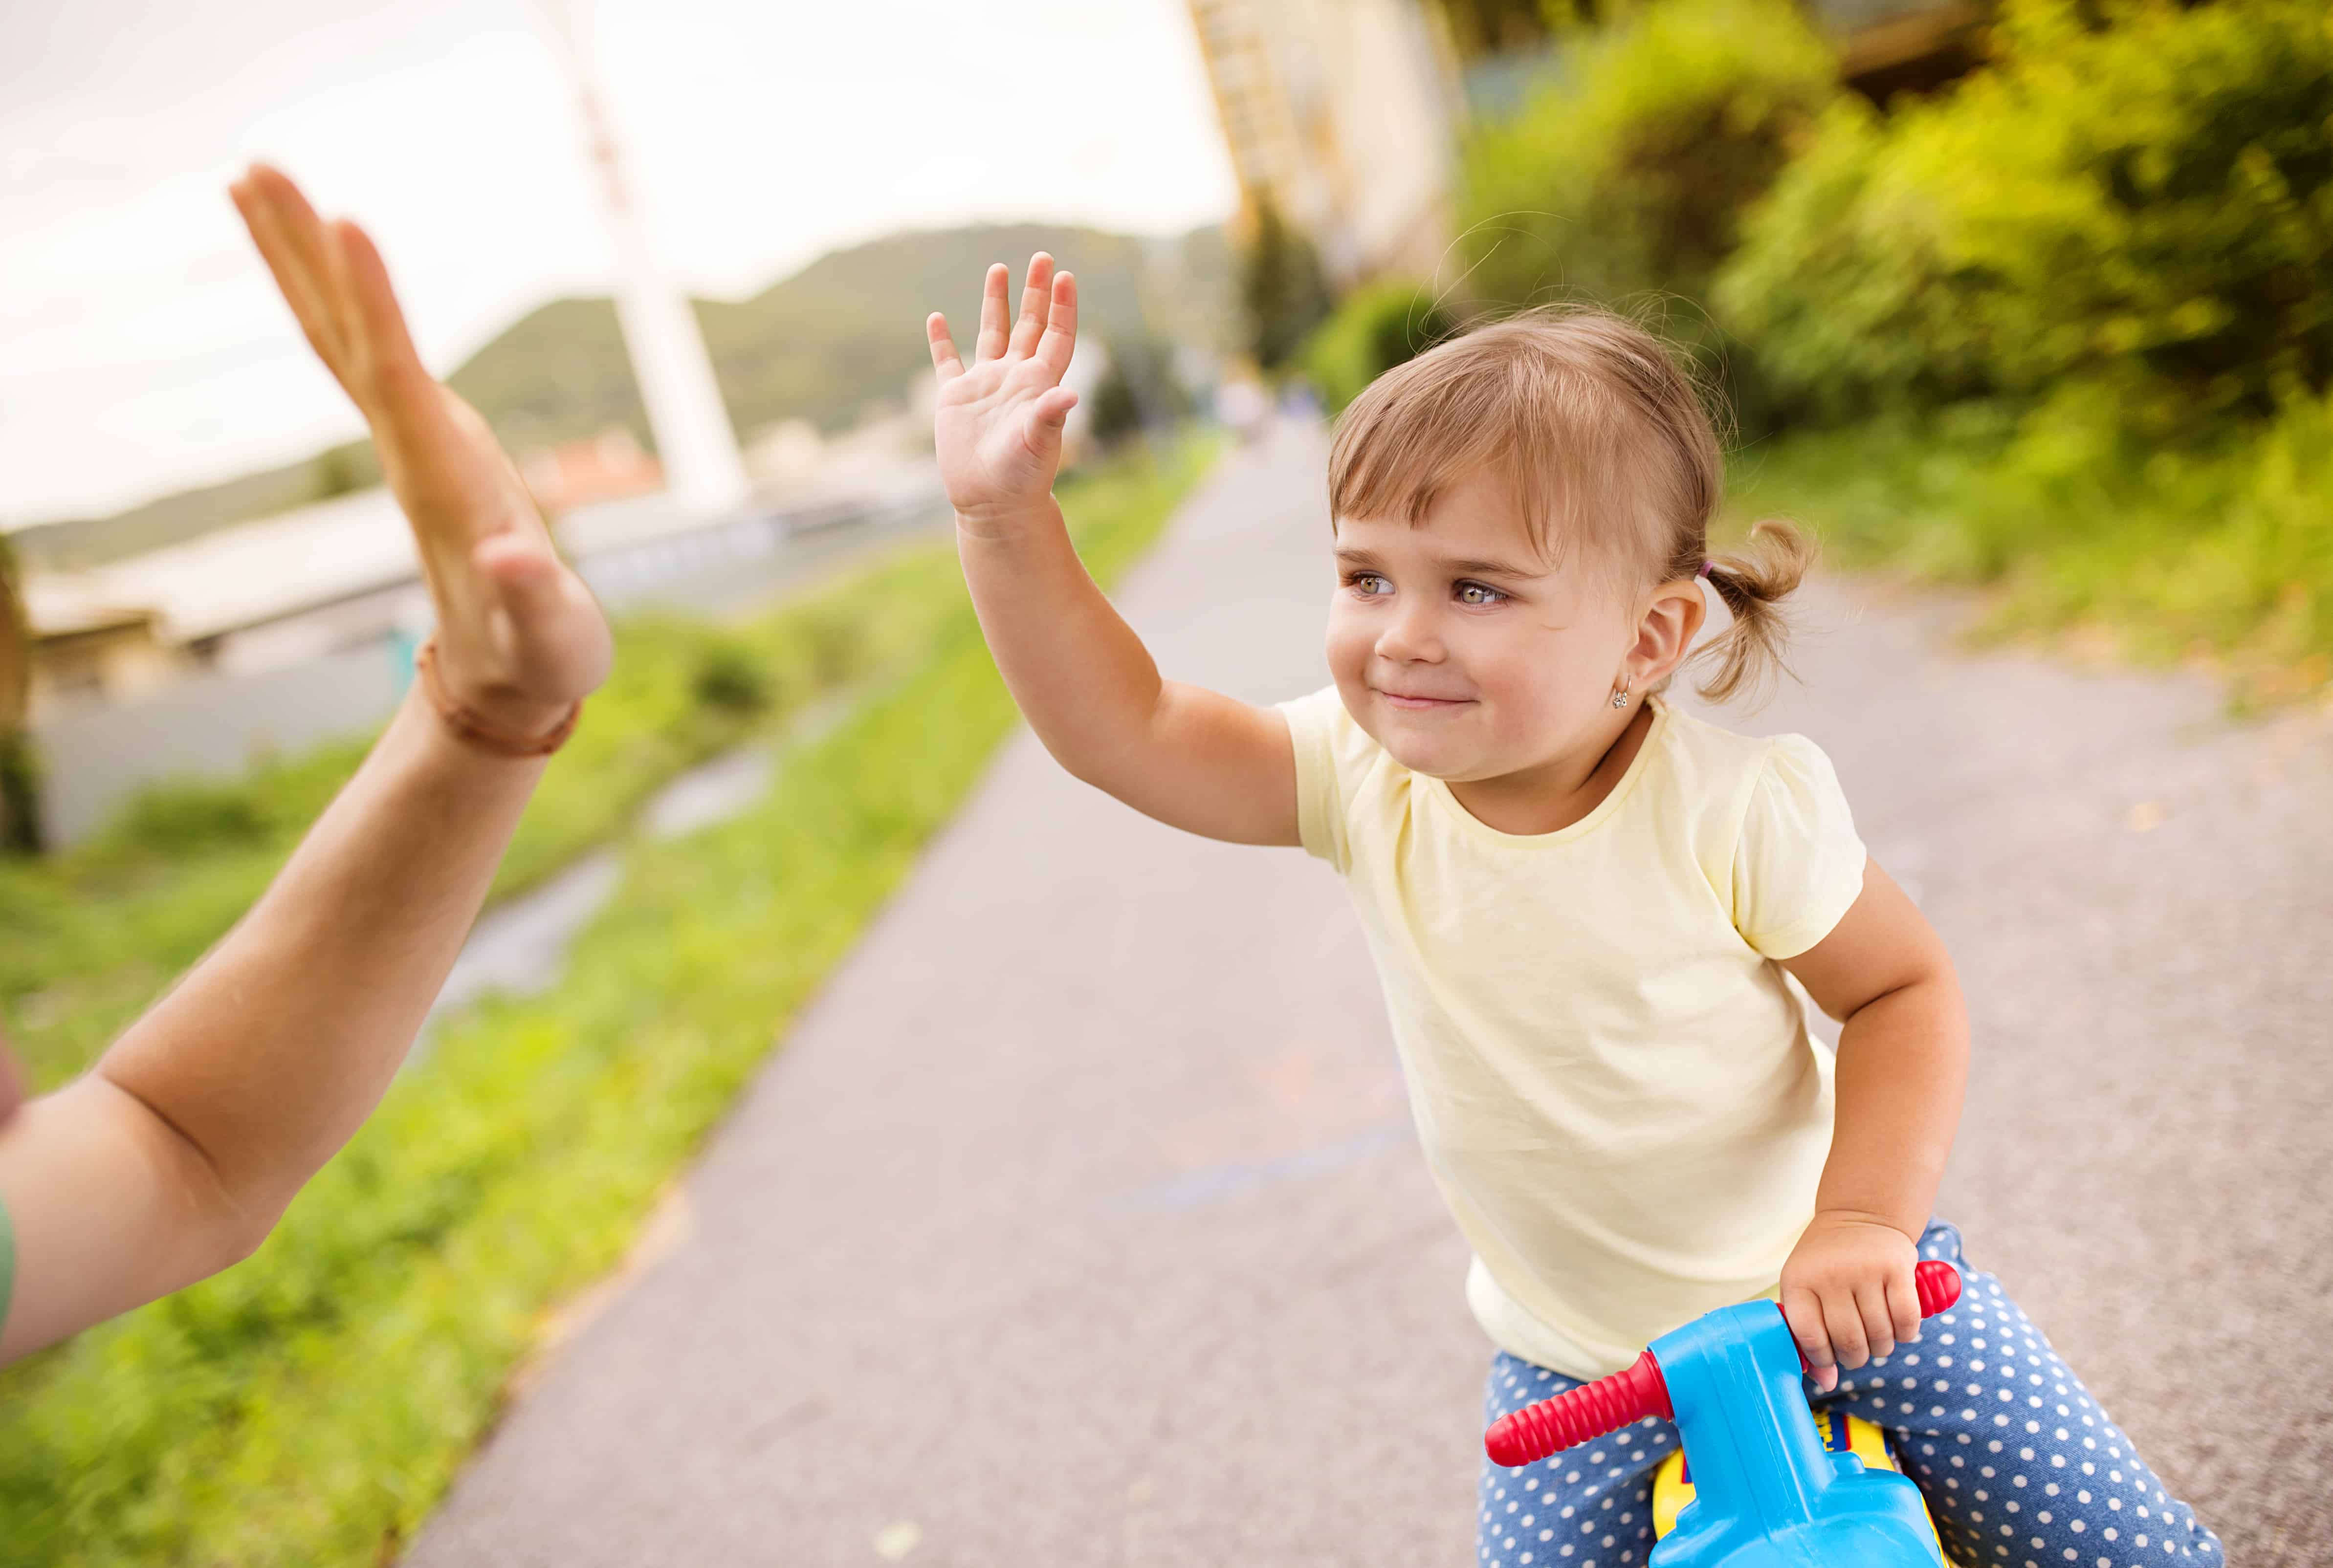
[[1782, 1314], [1822, 1388], [1920, 1335], [1915, 1244], [1969, 1083], [1969, 1013], [1936, 929], [1864, 868], [1838, 926], [1782, 964], [1841, 1020], [1838, 1113], [1815, 1220], [1782, 1265]]

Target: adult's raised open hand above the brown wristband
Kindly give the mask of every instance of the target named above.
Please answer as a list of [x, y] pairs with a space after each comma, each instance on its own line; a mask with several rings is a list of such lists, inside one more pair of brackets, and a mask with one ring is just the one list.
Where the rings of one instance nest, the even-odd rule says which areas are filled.
[[324, 222], [266, 163], [229, 187], [308, 345], [373, 429], [436, 604], [439, 679], [504, 735], [548, 735], [607, 679], [600, 604], [495, 432], [422, 366], [364, 229]]

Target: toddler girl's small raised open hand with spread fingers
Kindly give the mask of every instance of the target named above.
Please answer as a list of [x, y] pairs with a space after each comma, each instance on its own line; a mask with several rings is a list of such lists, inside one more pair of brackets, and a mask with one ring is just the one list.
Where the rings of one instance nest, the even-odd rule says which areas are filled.
[[940, 378], [933, 439], [940, 483], [966, 523], [989, 525], [1043, 502], [1062, 464], [1062, 425], [1078, 394], [1062, 385], [1078, 343], [1078, 280], [1055, 275], [1052, 257], [1029, 257], [1020, 320], [1006, 331], [1013, 282], [1001, 261], [980, 296], [980, 341], [973, 364], [957, 357], [947, 317], [924, 322], [931, 369]]

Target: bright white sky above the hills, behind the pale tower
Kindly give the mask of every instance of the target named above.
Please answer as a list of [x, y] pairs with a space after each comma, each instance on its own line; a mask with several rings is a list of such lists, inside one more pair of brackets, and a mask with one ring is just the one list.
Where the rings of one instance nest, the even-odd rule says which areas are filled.
[[[0, 527], [362, 432], [226, 198], [250, 159], [373, 233], [439, 373], [546, 299], [607, 292], [534, 7], [0, 5]], [[653, 243], [695, 294], [896, 229], [1176, 233], [1236, 198], [1183, 0], [576, 9]]]

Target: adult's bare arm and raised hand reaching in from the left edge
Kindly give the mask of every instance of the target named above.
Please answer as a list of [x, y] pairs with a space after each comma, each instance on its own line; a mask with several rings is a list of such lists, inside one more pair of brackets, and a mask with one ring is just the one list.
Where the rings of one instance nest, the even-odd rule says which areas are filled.
[[[373, 429], [420, 546], [448, 698], [513, 742], [558, 733], [607, 674], [600, 607], [485, 422], [422, 369], [371, 240], [317, 219], [271, 168], [233, 196]], [[217, 950], [96, 1069], [7, 1118], [16, 1286], [0, 1360], [259, 1246], [397, 1073], [541, 770], [455, 737], [415, 691]]]

